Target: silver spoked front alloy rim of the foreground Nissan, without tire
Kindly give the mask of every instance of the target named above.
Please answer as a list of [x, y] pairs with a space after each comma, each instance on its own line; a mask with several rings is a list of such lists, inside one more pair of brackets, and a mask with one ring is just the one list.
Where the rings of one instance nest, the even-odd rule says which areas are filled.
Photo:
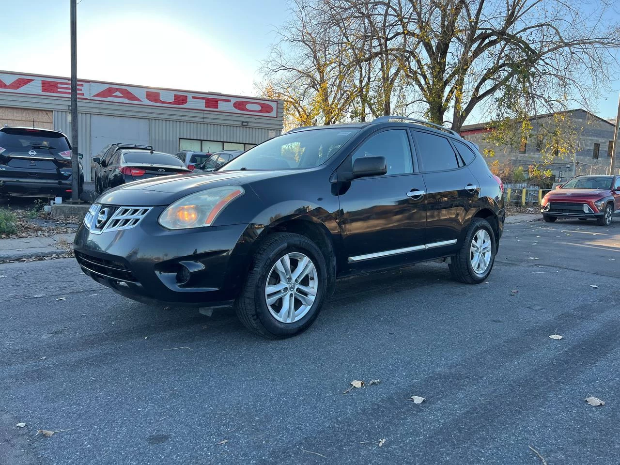
[[269, 272], [265, 301], [272, 316], [282, 323], [302, 319], [318, 291], [316, 267], [308, 256], [291, 252], [280, 257]]

